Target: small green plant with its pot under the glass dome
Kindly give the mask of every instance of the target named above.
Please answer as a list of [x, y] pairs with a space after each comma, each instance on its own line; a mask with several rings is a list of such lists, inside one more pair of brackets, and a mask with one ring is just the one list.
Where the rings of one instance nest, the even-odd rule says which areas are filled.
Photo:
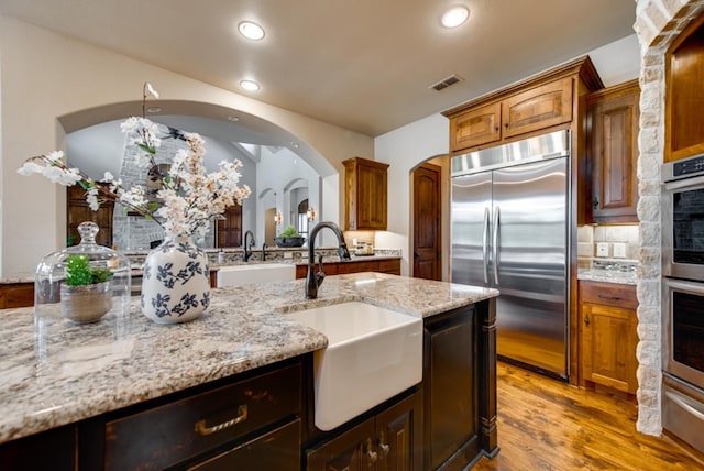
[[62, 316], [75, 322], [96, 322], [112, 307], [113, 273], [95, 269], [86, 255], [68, 255], [62, 284]]

